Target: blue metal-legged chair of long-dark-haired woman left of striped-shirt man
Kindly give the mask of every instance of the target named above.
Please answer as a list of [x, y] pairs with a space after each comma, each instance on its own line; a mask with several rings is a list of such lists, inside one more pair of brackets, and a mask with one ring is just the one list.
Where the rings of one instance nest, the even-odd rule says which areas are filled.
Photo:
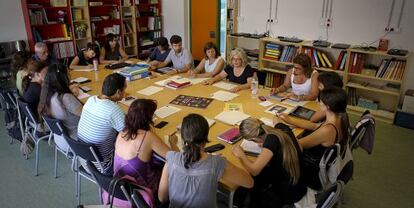
[[57, 178], [57, 166], [58, 166], [58, 151], [61, 152], [62, 154], [65, 155], [66, 158], [68, 159], [72, 159], [73, 158], [73, 154], [70, 151], [70, 149], [62, 149], [59, 144], [67, 144], [66, 140], [63, 138], [63, 135], [67, 135], [65, 129], [63, 128], [62, 122], [58, 119], [54, 119], [54, 118], [50, 118], [47, 116], [42, 116], [43, 121], [45, 121], [45, 125], [47, 126], [47, 128], [50, 130], [50, 134], [49, 134], [49, 145], [50, 145], [50, 141], [53, 140], [55, 141], [55, 169], [54, 169], [54, 174], [55, 174], [55, 178]]

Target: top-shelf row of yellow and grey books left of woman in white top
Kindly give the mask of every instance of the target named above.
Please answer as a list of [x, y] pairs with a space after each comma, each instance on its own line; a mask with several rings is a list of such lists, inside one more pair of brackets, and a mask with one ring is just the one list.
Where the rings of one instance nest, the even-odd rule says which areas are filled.
[[298, 48], [293, 45], [281, 46], [267, 43], [265, 48], [265, 58], [281, 62], [292, 62], [298, 52]]

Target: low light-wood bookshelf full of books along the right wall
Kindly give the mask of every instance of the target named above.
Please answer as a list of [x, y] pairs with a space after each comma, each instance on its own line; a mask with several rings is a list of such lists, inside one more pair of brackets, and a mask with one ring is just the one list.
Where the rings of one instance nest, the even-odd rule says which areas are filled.
[[293, 65], [291, 57], [299, 52], [307, 53], [316, 70], [334, 71], [342, 76], [349, 96], [349, 113], [361, 115], [370, 110], [377, 120], [393, 123], [411, 53], [396, 56], [356, 46], [349, 49], [315, 47], [312, 41], [290, 43], [275, 38], [260, 39], [259, 50], [259, 70], [267, 72], [266, 86], [282, 84]]

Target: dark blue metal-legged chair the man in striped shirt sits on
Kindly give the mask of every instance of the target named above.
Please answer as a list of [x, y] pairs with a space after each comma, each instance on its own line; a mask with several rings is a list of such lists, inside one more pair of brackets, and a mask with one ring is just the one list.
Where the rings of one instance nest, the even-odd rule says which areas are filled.
[[[71, 138], [68, 138], [66, 135], [63, 135], [66, 142], [68, 142], [69, 147], [72, 149], [74, 153], [74, 158], [72, 162], [72, 170], [75, 172], [75, 183], [76, 183], [76, 198], [78, 201], [78, 205], [80, 205], [80, 195], [81, 195], [81, 176], [88, 179], [89, 181], [96, 183], [93, 176], [89, 173], [89, 170], [85, 169], [85, 167], [79, 163], [83, 163], [86, 165], [86, 161], [95, 162], [96, 165], [99, 167], [100, 170], [103, 170], [102, 167], [102, 158], [97, 151], [93, 144], [87, 144], [81, 141], [75, 141]], [[99, 191], [100, 193], [100, 191]]]

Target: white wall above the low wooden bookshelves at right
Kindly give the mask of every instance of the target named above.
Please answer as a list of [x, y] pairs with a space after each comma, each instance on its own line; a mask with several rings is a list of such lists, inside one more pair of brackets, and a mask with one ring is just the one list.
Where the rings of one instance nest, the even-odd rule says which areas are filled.
[[[262, 3], [258, 3], [258, 2]], [[269, 0], [241, 0], [239, 32], [263, 33], [269, 14]], [[276, 0], [273, 0], [276, 2]], [[326, 30], [320, 26], [323, 0], [279, 0], [278, 22], [272, 24], [274, 36], [296, 36], [302, 39], [325, 39]], [[391, 0], [334, 0], [330, 42], [350, 44], [371, 43], [385, 34]], [[392, 25], [396, 25], [402, 0], [396, 0]], [[273, 3], [273, 15], [275, 3]], [[398, 10], [398, 11], [397, 11]], [[390, 48], [414, 51], [414, 1], [406, 0], [401, 31], [389, 33]], [[378, 42], [373, 44], [378, 46]], [[413, 54], [414, 55], [414, 54]], [[414, 89], [414, 62], [411, 62], [404, 89]]]

